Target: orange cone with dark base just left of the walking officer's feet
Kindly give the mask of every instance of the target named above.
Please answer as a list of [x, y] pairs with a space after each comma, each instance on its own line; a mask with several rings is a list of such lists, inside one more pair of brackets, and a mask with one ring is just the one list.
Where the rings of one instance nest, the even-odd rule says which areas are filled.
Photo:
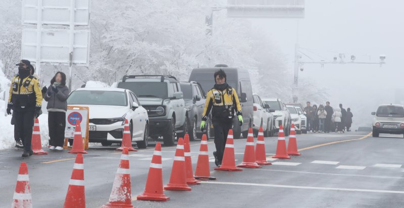
[[195, 179], [198, 180], [216, 180], [211, 177], [211, 168], [209, 167], [208, 140], [206, 134], [202, 136], [199, 147], [198, 161], [196, 162]]

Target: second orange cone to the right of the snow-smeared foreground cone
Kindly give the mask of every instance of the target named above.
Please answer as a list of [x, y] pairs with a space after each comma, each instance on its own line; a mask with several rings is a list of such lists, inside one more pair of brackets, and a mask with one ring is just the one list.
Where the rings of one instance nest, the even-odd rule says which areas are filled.
[[178, 139], [177, 150], [175, 150], [173, 169], [171, 169], [170, 182], [166, 186], [164, 186], [164, 190], [192, 190], [191, 187], [186, 184], [184, 141], [182, 140], [182, 138]]

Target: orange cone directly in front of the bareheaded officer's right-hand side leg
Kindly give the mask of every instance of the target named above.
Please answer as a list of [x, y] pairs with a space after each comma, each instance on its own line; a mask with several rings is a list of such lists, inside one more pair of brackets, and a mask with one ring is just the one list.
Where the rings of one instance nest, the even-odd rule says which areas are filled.
[[234, 159], [234, 142], [233, 142], [233, 130], [229, 130], [227, 135], [226, 146], [224, 148], [223, 161], [220, 167], [215, 168], [217, 171], [242, 171], [243, 169], [236, 167], [236, 161]]

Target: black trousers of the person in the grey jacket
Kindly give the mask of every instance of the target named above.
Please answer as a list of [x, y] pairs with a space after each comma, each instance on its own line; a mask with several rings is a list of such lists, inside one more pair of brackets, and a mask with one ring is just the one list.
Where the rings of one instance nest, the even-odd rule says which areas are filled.
[[62, 146], [65, 142], [66, 113], [48, 112], [49, 145]]

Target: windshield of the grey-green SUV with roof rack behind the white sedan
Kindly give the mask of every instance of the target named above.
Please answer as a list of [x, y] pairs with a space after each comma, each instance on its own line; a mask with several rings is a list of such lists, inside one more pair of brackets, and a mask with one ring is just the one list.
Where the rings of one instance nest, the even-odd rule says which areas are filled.
[[168, 88], [166, 82], [120, 82], [119, 88], [129, 89], [137, 97], [167, 97]]

